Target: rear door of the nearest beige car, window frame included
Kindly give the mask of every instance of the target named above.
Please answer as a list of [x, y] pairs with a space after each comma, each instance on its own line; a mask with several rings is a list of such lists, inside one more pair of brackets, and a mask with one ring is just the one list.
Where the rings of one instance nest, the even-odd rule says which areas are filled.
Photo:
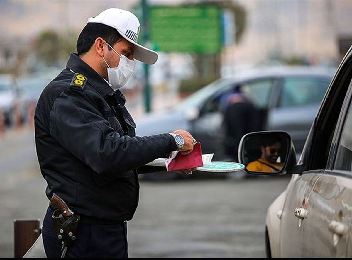
[[319, 173], [308, 198], [308, 214], [303, 227], [303, 257], [346, 257], [348, 245], [352, 242], [349, 241], [352, 217], [352, 82], [348, 91], [335, 128], [327, 169]]

